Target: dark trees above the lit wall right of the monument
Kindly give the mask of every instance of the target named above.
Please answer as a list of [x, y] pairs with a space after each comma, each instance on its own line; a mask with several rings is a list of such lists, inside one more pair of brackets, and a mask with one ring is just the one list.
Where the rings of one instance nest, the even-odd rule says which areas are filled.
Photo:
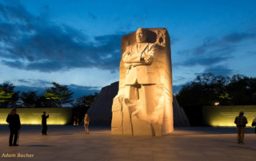
[[176, 95], [183, 106], [256, 104], [256, 78], [240, 74], [233, 77], [204, 73], [182, 86]]

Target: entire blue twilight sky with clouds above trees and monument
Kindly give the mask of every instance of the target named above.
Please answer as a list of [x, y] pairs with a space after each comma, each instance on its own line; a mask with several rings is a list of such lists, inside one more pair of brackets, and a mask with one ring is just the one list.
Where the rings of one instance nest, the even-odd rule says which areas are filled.
[[256, 1], [0, 0], [0, 84], [86, 93], [118, 81], [123, 34], [170, 33], [174, 92], [200, 73], [256, 77]]

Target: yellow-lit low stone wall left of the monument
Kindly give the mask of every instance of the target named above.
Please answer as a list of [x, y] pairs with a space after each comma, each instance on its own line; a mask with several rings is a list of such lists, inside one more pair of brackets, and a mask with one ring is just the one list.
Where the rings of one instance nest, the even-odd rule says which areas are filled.
[[[0, 108], [0, 124], [7, 124], [10, 108]], [[42, 112], [49, 114], [47, 124], [71, 124], [72, 108], [17, 108], [21, 124], [42, 124]]]

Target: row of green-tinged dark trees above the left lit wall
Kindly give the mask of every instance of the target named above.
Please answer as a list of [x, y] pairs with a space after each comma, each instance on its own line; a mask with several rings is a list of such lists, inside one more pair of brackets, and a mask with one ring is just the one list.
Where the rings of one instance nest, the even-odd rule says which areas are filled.
[[13, 84], [0, 84], [0, 108], [62, 108], [69, 104], [73, 108], [90, 108], [94, 97], [98, 93], [89, 96], [81, 96], [72, 100], [74, 92], [70, 91], [67, 85], [52, 82], [52, 87], [46, 88], [42, 95], [37, 91], [20, 92], [14, 90]]

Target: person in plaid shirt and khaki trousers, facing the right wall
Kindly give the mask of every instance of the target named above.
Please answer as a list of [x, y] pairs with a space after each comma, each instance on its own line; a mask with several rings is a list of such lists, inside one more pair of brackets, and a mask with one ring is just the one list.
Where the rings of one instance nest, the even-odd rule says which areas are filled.
[[247, 123], [247, 119], [243, 116], [243, 112], [240, 112], [239, 116], [234, 120], [234, 124], [237, 124], [238, 129], [238, 143], [243, 143]]

